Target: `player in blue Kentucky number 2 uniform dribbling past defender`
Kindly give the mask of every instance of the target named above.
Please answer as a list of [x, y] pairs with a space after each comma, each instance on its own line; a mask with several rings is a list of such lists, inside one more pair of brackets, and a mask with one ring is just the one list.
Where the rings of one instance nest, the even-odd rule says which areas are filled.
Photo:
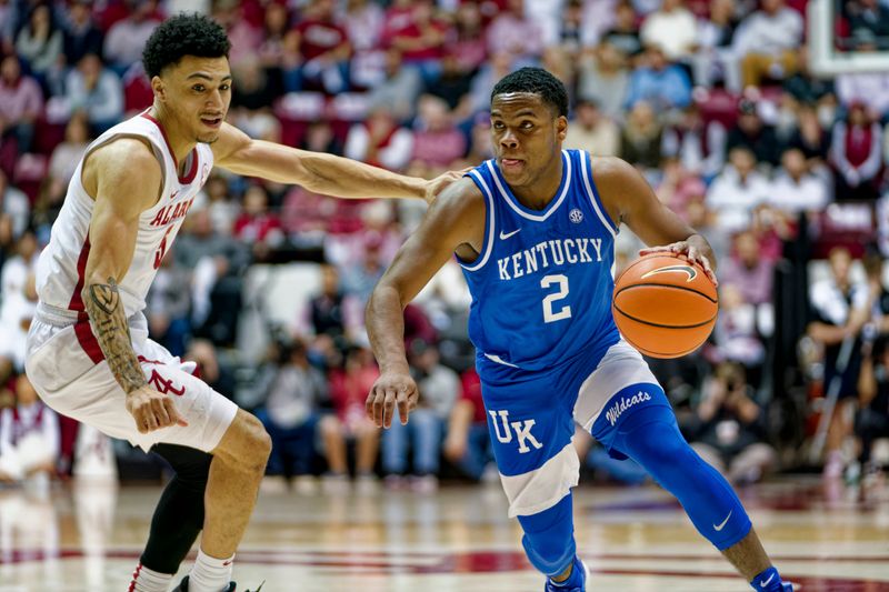
[[617, 458], [637, 461], [676, 495], [698, 531], [755, 590], [789, 591], [728, 482], [688, 445], [642, 357], [611, 317], [613, 241], [626, 223], [646, 244], [700, 263], [707, 241], [615, 158], [562, 150], [565, 87], [538, 68], [491, 93], [497, 157], [450, 185], [399, 251], [368, 303], [380, 364], [368, 414], [408, 421], [418, 399], [403, 344], [403, 307], [457, 255], [472, 293], [469, 334], [509, 514], [547, 591], [583, 591], [571, 488], [575, 423]]

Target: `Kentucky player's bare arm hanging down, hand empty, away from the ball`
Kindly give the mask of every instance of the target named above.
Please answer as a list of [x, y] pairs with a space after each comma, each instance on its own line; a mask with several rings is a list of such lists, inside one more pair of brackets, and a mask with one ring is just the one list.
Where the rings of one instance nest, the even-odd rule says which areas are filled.
[[378, 427], [391, 425], [396, 404], [401, 423], [417, 407], [419, 393], [404, 354], [404, 307], [460, 245], [479, 252], [483, 231], [481, 193], [469, 179], [453, 183], [432, 203], [373, 289], [364, 320], [380, 378], [368, 394], [367, 412]]

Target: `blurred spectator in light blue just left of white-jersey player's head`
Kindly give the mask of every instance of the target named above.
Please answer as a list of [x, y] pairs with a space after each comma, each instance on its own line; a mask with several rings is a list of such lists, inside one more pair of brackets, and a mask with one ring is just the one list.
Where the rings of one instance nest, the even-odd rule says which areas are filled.
[[83, 111], [98, 133], [120, 121], [123, 116], [123, 87], [120, 77], [94, 53], [88, 53], [68, 73], [66, 99], [71, 112]]

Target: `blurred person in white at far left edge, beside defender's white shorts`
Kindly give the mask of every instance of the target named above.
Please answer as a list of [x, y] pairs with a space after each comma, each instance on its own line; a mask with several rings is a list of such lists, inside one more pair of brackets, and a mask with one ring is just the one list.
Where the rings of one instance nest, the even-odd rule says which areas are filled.
[[14, 407], [0, 411], [0, 482], [37, 480], [46, 486], [56, 474], [59, 449], [59, 419], [21, 373]]

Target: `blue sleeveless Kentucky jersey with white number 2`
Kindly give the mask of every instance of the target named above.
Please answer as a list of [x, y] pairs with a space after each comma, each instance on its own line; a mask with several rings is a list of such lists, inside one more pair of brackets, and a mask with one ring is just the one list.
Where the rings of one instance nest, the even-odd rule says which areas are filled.
[[495, 160], [469, 173], [487, 202], [481, 253], [460, 261], [482, 380], [506, 369], [557, 369], [619, 340], [611, 315], [617, 228], [589, 154], [562, 150], [562, 164], [559, 190], [540, 211], [519, 202]]

